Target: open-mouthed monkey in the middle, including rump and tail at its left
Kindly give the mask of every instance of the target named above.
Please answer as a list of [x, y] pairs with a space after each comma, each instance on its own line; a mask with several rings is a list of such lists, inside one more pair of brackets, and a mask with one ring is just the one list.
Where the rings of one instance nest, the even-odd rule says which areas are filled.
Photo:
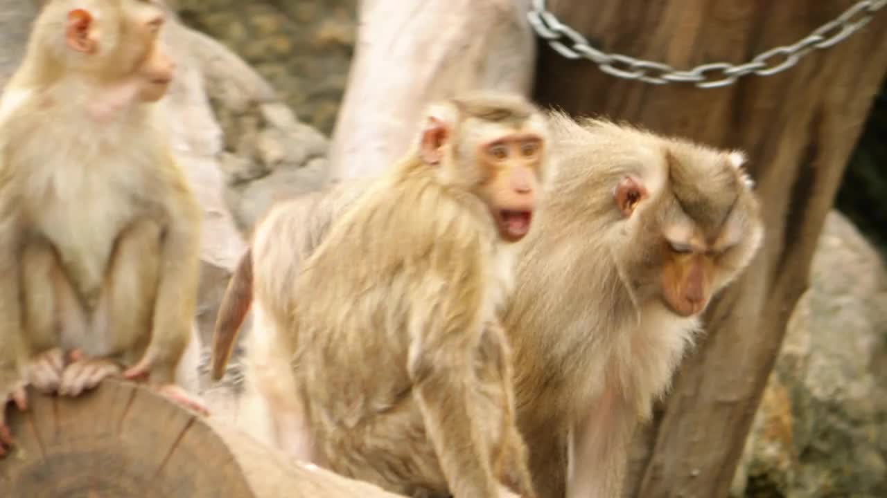
[[296, 237], [310, 256], [289, 244], [291, 208], [257, 228], [219, 313], [214, 377], [255, 290], [250, 373], [292, 455], [401, 494], [535, 496], [498, 309], [546, 173], [545, 120], [487, 93], [423, 120], [386, 175], [333, 197], [341, 219], [307, 223], [326, 235]]

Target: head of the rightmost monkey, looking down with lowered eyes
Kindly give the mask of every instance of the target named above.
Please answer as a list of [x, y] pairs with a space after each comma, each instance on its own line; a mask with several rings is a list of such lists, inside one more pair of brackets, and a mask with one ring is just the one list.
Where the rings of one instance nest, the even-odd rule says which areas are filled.
[[758, 201], [741, 152], [674, 139], [657, 150], [651, 181], [623, 175], [613, 190], [635, 245], [626, 274], [639, 297], [658, 297], [682, 317], [698, 315], [757, 252]]

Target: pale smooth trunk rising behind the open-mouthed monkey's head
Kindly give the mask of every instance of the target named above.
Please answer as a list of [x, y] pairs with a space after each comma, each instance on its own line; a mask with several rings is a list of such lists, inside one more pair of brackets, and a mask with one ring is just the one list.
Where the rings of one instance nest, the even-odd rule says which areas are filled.
[[330, 180], [376, 175], [416, 132], [422, 107], [467, 89], [526, 95], [530, 0], [362, 0], [357, 51], [330, 146]]

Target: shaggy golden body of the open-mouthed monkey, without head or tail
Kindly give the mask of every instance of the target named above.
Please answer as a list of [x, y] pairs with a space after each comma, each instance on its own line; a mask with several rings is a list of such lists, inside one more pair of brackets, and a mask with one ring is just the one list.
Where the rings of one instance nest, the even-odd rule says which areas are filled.
[[[294, 374], [320, 461], [399, 493], [498, 494], [487, 444], [502, 433], [483, 420], [503, 415], [478, 411], [481, 386], [464, 376], [507, 283], [490, 264], [498, 236], [486, 206], [457, 196], [433, 176], [373, 183], [288, 292]], [[356, 264], [342, 271], [342, 261]], [[456, 449], [459, 440], [474, 448]]]

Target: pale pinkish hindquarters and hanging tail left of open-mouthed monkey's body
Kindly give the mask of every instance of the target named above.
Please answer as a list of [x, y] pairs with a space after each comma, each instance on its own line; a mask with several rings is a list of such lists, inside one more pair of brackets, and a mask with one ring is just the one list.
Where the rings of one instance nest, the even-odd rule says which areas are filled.
[[[302, 438], [307, 429], [302, 423], [301, 405], [295, 402], [293, 394], [289, 356], [279, 354], [284, 346], [278, 339], [283, 336], [271, 333], [274, 328], [267, 323], [268, 317], [287, 316], [287, 304], [281, 297], [299, 275], [302, 261], [314, 251], [321, 237], [326, 237], [333, 214], [352, 206], [360, 193], [362, 190], [348, 185], [332, 186], [274, 203], [255, 226], [252, 244], [232, 273], [212, 336], [210, 377], [218, 381], [224, 376], [237, 332], [254, 299], [255, 271], [255, 294], [260, 304], [253, 313], [247, 355], [242, 359], [247, 375], [242, 377], [241, 400], [249, 414], [238, 416], [239, 428], [256, 440], [303, 460], [310, 460]], [[263, 312], [263, 308], [267, 311]]]

